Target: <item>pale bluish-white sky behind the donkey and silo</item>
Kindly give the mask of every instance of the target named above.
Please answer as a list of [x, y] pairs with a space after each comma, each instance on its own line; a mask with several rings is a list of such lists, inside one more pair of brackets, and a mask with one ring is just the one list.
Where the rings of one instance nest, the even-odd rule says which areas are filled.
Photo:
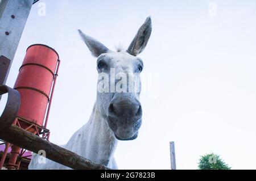
[[96, 100], [96, 58], [76, 30], [110, 49], [126, 48], [151, 15], [152, 35], [139, 57], [144, 74], [158, 74], [158, 96], [142, 94], [142, 128], [137, 140], [119, 141], [119, 169], [170, 169], [170, 141], [177, 169], [197, 169], [200, 155], [212, 152], [232, 169], [256, 169], [255, 1], [39, 2], [46, 16], [39, 16], [39, 3], [32, 7], [7, 85], [13, 87], [29, 45], [57, 50], [52, 142], [65, 144]]

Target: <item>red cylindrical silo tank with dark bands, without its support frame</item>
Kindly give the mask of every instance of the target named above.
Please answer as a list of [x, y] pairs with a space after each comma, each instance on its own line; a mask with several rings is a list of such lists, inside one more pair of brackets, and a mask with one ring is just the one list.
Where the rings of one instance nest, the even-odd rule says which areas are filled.
[[20, 93], [18, 117], [43, 126], [58, 60], [57, 52], [46, 45], [28, 47], [14, 85]]

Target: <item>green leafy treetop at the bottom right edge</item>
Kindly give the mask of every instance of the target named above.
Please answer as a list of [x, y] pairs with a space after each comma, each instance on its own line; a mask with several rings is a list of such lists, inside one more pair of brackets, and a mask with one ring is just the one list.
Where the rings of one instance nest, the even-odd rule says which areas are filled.
[[230, 170], [228, 166], [221, 158], [216, 154], [205, 154], [200, 157], [198, 163], [199, 170]]

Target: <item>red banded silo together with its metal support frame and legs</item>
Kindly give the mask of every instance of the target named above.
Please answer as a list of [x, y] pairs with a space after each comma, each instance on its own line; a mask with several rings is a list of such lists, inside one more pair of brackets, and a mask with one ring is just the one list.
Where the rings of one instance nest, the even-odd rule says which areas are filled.
[[[14, 85], [14, 89], [20, 94], [20, 108], [14, 124], [47, 140], [49, 130], [46, 126], [59, 65], [59, 55], [54, 49], [43, 44], [31, 45], [27, 49]], [[10, 144], [6, 143], [6, 153], [3, 153], [5, 157], [9, 146]], [[19, 162], [16, 161], [22, 156], [22, 152], [24, 150], [20, 150], [18, 146], [11, 146], [7, 169], [19, 169]], [[0, 169], [5, 157], [1, 159]]]

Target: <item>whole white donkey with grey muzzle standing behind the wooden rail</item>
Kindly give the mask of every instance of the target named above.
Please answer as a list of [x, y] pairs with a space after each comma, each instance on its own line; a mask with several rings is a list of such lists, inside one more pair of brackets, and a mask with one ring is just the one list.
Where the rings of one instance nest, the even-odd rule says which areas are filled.
[[[150, 17], [146, 19], [126, 51], [113, 52], [99, 41], [84, 35], [80, 30], [79, 33], [90, 52], [97, 57], [98, 83], [102, 79], [102, 73], [108, 76], [109, 85], [113, 83], [110, 80], [113, 78], [111, 72], [113, 73], [114, 70], [114, 79], [118, 73], [123, 73], [129, 77], [129, 85], [137, 84], [139, 88], [138, 91], [134, 91], [134, 89], [131, 91], [129, 90], [130, 87], [135, 86], [127, 86], [126, 88], [126, 85], [122, 85], [127, 91], [97, 91], [96, 103], [88, 123], [73, 134], [63, 148], [90, 161], [100, 163], [111, 169], [117, 169], [113, 154], [118, 140], [137, 138], [142, 123], [142, 108], [139, 102], [139, 93], [141, 92], [139, 73], [143, 69], [143, 62], [141, 58], [136, 56], [147, 45], [151, 35], [151, 19]], [[119, 78], [121, 79], [121, 77]], [[117, 84], [115, 79], [114, 86]], [[109, 86], [105, 88], [109, 90]], [[39, 157], [39, 155], [33, 156], [28, 166], [29, 169], [69, 169], [49, 159], [46, 159], [46, 163], [39, 163]]]

